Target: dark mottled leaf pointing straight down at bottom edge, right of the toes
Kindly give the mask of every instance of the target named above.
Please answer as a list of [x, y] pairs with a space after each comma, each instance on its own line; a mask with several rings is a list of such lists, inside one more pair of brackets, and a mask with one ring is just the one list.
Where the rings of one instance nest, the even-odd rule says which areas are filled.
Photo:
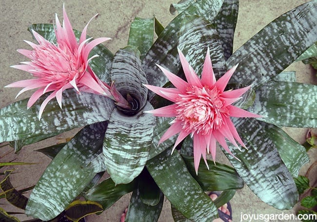
[[154, 206], [147, 205], [142, 202], [139, 189], [137, 189], [132, 193], [125, 221], [140, 222], [141, 220], [142, 222], [156, 222], [162, 210], [163, 202], [164, 195], [160, 193], [158, 204]]

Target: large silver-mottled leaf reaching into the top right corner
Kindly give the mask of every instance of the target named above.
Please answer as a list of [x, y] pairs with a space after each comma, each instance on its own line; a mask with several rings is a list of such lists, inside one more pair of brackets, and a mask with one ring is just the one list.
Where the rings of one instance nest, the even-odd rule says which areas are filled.
[[269, 23], [230, 56], [228, 67], [239, 63], [231, 82], [262, 85], [316, 41], [317, 1], [310, 1]]

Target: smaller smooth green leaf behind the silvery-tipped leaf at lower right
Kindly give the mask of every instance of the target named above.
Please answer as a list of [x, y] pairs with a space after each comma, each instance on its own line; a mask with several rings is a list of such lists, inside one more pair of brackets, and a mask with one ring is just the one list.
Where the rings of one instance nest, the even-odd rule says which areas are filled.
[[280, 157], [292, 176], [298, 177], [300, 168], [309, 162], [306, 149], [287, 135], [283, 129], [269, 123], [260, 122], [260, 124], [274, 142]]

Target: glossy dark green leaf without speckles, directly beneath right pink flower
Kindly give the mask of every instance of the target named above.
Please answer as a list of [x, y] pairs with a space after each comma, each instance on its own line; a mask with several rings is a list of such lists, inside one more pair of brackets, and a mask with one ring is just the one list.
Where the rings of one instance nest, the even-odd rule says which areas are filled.
[[198, 182], [204, 191], [217, 191], [228, 189], [241, 189], [244, 185], [243, 180], [238, 176], [237, 171], [224, 164], [207, 160], [209, 170], [203, 161], [199, 163], [198, 175], [194, 167], [194, 158], [182, 156], [190, 174]]

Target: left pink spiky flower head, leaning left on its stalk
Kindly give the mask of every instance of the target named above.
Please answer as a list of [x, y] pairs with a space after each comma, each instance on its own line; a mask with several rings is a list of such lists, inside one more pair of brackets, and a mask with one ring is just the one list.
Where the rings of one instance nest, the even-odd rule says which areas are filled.
[[20, 54], [30, 58], [31, 61], [21, 62], [20, 65], [12, 67], [31, 73], [36, 78], [21, 80], [6, 86], [24, 87], [17, 97], [22, 92], [39, 88], [30, 97], [27, 108], [30, 108], [45, 92], [52, 92], [41, 104], [39, 118], [47, 103], [54, 97], [56, 97], [61, 108], [62, 92], [66, 89], [74, 88], [79, 93], [92, 92], [111, 97], [110, 87], [103, 83], [88, 66], [88, 62], [98, 56], [95, 55], [88, 59], [90, 51], [110, 38], [100, 37], [92, 41], [90, 41], [91, 38], [86, 39], [86, 30], [92, 18], [82, 30], [78, 42], [64, 6], [63, 17], [63, 25], [61, 26], [56, 15], [55, 34], [57, 44], [47, 41], [32, 30], [39, 44], [25, 40], [33, 50], [18, 50]]

